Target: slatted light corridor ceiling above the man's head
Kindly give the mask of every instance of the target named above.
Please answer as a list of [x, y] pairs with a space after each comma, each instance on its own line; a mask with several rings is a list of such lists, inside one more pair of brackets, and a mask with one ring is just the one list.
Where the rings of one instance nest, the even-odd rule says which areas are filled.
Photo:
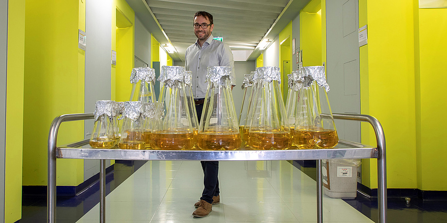
[[[223, 37], [232, 50], [254, 50], [274, 25], [289, 0], [145, 0], [182, 61], [197, 38], [197, 11], [213, 16], [214, 37]], [[160, 41], [160, 40], [159, 40]]]

